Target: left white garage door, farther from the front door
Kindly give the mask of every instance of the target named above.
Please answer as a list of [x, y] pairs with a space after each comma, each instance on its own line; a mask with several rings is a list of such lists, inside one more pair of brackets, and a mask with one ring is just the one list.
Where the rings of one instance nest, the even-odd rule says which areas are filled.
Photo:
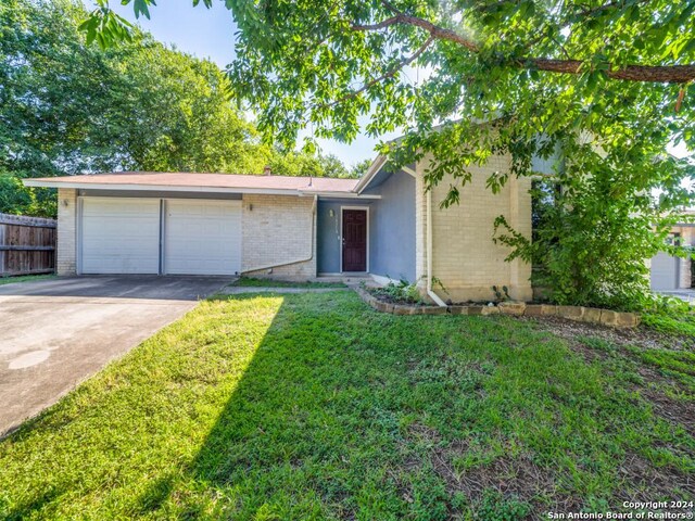
[[85, 198], [83, 274], [157, 274], [160, 200]]

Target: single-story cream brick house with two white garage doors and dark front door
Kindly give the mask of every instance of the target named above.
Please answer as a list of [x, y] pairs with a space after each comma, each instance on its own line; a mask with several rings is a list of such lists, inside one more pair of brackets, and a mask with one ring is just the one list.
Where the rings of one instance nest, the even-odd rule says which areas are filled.
[[531, 233], [531, 179], [493, 194], [486, 178], [510, 165], [494, 156], [471, 167], [459, 205], [441, 208], [454, 180], [425, 190], [428, 164], [395, 169], [380, 156], [358, 180], [125, 171], [25, 185], [58, 188], [59, 275], [361, 274], [417, 282], [435, 302], [490, 298], [492, 285], [530, 300], [531, 267], [505, 262], [492, 234], [498, 215]]

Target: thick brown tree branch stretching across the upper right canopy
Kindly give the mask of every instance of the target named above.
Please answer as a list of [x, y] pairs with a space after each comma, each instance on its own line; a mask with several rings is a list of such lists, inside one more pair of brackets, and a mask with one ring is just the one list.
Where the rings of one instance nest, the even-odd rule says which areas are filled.
[[[390, 8], [391, 9], [391, 8]], [[380, 30], [395, 24], [405, 24], [427, 30], [432, 39], [451, 41], [478, 53], [478, 45], [458, 33], [435, 25], [427, 20], [397, 12], [383, 22], [371, 25], [352, 25], [353, 30]], [[559, 74], [580, 74], [585, 71], [585, 62], [580, 60], [553, 60], [546, 58], [510, 58], [509, 63], [518, 68], [547, 71]], [[695, 64], [688, 65], [626, 65], [621, 68], [608, 67], [606, 75], [628, 81], [685, 84], [695, 79]]]

